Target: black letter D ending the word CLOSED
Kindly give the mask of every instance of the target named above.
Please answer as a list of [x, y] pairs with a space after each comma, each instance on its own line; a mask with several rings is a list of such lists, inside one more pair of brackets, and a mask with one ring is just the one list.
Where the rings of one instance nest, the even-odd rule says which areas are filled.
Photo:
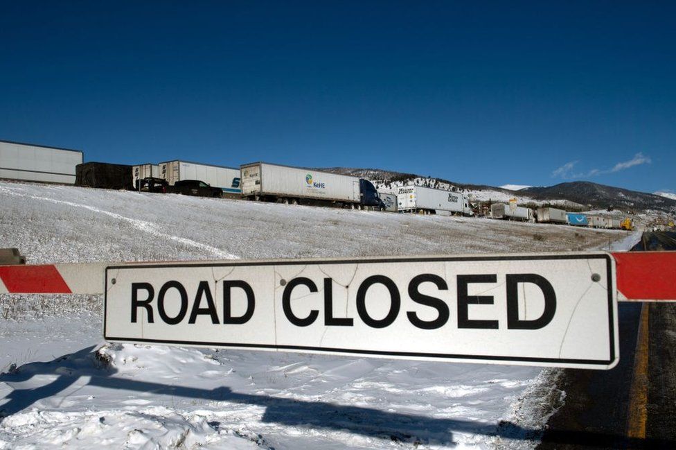
[[[544, 294], [544, 311], [535, 320], [519, 320], [519, 283], [533, 283], [542, 289]], [[507, 328], [508, 329], [540, 329], [554, 318], [556, 312], [556, 294], [551, 284], [534, 273], [507, 275]]]

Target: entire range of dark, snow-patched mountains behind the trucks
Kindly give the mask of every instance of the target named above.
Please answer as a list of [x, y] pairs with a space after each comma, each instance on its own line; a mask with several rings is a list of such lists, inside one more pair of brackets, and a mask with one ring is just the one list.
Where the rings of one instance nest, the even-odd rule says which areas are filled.
[[[656, 195], [591, 182], [569, 182], [551, 187], [525, 187], [516, 190], [519, 187], [517, 185], [492, 187], [485, 184], [463, 184], [443, 178], [384, 171], [378, 168], [330, 167], [317, 168], [317, 170], [366, 178], [371, 180], [379, 191], [395, 191], [400, 186], [416, 184], [447, 191], [465, 192], [475, 201], [506, 202], [510, 198], [517, 198], [519, 204], [528, 202], [551, 203], [561, 205], [560, 207], [563, 208], [606, 209], [612, 206], [626, 211], [639, 212], [655, 209], [669, 213], [676, 210], [676, 198], [669, 197], [676, 197], [676, 194], [659, 193], [660, 195]], [[508, 187], [513, 189], [506, 189]]]

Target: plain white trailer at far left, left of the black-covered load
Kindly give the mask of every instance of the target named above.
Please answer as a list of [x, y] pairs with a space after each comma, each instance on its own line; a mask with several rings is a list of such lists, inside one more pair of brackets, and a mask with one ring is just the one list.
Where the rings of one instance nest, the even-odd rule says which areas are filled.
[[0, 178], [75, 184], [78, 164], [80, 150], [0, 141]]

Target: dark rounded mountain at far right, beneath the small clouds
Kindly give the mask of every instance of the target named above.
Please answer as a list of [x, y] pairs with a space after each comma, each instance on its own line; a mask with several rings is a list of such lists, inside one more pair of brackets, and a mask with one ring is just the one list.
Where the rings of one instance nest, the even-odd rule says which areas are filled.
[[645, 211], [646, 209], [676, 210], [676, 200], [670, 198], [586, 181], [561, 183], [550, 187], [529, 187], [519, 191], [519, 194], [540, 200], [564, 198], [592, 208], [605, 209], [612, 206], [634, 211]]

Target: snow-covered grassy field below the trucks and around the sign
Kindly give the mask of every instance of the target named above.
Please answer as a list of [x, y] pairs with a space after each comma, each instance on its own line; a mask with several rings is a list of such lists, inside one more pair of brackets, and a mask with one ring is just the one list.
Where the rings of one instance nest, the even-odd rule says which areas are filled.
[[[28, 263], [626, 248], [610, 230], [0, 182]], [[533, 448], [558, 370], [104, 345], [100, 297], [0, 295], [0, 449]]]

